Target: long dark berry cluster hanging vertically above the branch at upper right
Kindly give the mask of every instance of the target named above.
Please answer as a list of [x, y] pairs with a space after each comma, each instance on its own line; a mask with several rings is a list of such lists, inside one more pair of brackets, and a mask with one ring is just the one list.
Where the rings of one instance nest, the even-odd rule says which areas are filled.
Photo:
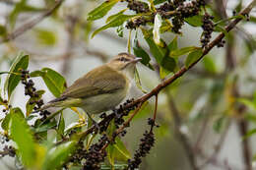
[[208, 43], [211, 40], [212, 32], [214, 31], [215, 28], [213, 19], [214, 17], [210, 16], [208, 13], [206, 13], [203, 17], [203, 33], [200, 39], [203, 48], [207, 47]]

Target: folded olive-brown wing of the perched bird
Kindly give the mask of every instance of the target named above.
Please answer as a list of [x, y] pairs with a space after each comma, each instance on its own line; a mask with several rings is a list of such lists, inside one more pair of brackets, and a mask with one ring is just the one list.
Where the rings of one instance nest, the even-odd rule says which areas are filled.
[[126, 79], [124, 75], [107, 66], [101, 66], [69, 86], [62, 96], [87, 98], [98, 93], [115, 92], [118, 89], [124, 88], [125, 85]]

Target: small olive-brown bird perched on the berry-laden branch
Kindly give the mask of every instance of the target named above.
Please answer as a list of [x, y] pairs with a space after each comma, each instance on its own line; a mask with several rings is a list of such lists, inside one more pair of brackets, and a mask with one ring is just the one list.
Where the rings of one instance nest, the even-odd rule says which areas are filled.
[[[90, 71], [66, 88], [60, 97], [49, 101], [40, 110], [49, 107], [80, 107], [90, 119], [121, 103], [129, 92], [136, 63], [141, 58], [119, 53], [110, 62]], [[96, 121], [92, 119], [96, 124]]]

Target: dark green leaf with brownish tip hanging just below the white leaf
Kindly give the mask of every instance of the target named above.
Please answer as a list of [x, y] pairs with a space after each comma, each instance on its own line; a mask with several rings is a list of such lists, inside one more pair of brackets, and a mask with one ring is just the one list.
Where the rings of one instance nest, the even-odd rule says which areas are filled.
[[163, 57], [167, 54], [167, 49], [160, 47], [153, 40], [153, 34], [147, 29], [142, 28], [142, 32], [145, 40], [147, 41], [153, 56], [156, 58], [157, 62], [160, 64]]

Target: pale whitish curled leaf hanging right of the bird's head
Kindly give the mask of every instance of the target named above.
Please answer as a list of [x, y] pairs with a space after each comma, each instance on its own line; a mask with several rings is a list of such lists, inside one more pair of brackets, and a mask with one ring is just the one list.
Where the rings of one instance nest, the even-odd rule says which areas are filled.
[[160, 26], [161, 26], [161, 18], [160, 18], [160, 14], [157, 14], [155, 16], [154, 28], [153, 28], [153, 39], [157, 45], [161, 45]]

